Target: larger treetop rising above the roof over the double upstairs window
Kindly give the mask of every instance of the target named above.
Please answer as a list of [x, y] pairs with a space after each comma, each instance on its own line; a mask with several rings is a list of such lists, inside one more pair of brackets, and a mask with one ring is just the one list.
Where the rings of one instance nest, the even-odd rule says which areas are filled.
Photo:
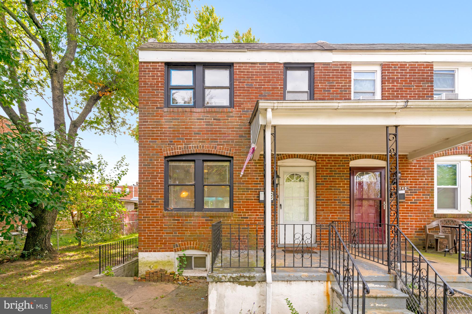
[[221, 23], [223, 18], [215, 14], [215, 8], [208, 5], [202, 6], [201, 10], [195, 10], [196, 23], [185, 28], [185, 34], [195, 37], [195, 42], [220, 42], [228, 39], [228, 36], [222, 36]]

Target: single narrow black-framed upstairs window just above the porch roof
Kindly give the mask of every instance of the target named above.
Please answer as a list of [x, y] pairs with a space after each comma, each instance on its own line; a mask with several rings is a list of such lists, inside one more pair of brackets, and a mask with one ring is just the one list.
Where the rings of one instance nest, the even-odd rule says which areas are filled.
[[313, 64], [285, 64], [284, 100], [313, 99]]

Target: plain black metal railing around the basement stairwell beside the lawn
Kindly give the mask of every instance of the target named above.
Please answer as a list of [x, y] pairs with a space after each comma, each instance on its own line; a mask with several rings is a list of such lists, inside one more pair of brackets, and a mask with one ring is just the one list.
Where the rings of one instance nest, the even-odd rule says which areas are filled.
[[102, 244], [98, 247], [98, 273], [138, 256], [138, 237]]

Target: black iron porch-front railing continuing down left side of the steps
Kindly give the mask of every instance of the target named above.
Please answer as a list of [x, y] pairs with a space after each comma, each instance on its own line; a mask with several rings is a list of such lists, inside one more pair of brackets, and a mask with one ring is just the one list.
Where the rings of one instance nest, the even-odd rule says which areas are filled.
[[[263, 268], [263, 224], [211, 225], [211, 271], [215, 268]], [[369, 286], [335, 225], [280, 224], [272, 267], [325, 268], [334, 274], [350, 313], [365, 313]]]

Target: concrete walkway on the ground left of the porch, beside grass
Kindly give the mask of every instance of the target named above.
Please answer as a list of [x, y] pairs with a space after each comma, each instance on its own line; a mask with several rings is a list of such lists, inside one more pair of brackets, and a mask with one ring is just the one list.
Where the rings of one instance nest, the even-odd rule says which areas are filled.
[[[106, 287], [135, 313], [204, 314], [208, 308], [208, 283], [195, 279], [190, 284], [168, 282], [137, 282], [133, 277], [102, 277], [93, 279], [96, 271], [75, 278], [75, 284]], [[161, 298], [162, 296], [162, 298]]]

